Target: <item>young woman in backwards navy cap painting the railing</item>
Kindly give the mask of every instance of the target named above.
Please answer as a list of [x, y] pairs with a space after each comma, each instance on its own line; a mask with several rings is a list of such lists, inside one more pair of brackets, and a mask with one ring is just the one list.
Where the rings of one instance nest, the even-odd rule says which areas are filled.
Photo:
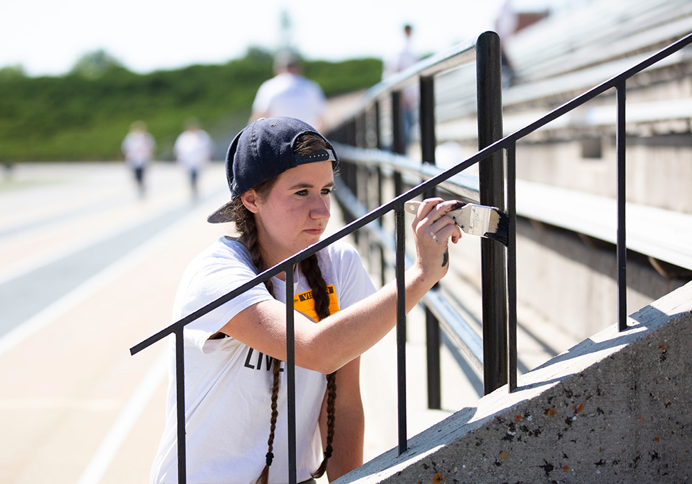
[[[210, 215], [233, 222], [188, 267], [175, 321], [316, 243], [329, 221], [331, 144], [294, 118], [263, 118], [243, 129], [226, 157], [231, 201]], [[445, 216], [453, 203], [425, 201], [413, 222], [417, 256], [406, 271], [410, 310], [448, 268], [448, 241], [461, 237]], [[188, 483], [281, 484], [289, 480], [286, 418], [285, 274], [185, 327]], [[396, 324], [394, 282], [374, 290], [351, 246], [335, 243], [300, 263], [295, 281], [298, 482], [329, 480], [363, 461], [359, 355]], [[174, 351], [167, 422], [152, 483], [176, 483]], [[327, 377], [325, 378], [325, 375]], [[338, 389], [338, 391], [337, 391]]]

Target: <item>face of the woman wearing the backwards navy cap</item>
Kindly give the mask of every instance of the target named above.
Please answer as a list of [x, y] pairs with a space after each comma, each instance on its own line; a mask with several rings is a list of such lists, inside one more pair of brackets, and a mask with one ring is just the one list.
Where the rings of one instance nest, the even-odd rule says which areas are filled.
[[243, 195], [246, 207], [255, 213], [267, 266], [320, 240], [329, 222], [332, 189], [331, 161], [318, 161], [284, 171], [264, 198], [254, 190]]

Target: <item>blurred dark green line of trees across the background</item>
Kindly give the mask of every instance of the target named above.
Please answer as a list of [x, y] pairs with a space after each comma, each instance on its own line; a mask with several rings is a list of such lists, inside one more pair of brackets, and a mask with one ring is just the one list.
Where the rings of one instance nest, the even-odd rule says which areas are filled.
[[[120, 159], [120, 142], [134, 120], [147, 123], [159, 159], [172, 159], [188, 118], [200, 120], [225, 150], [246, 124], [257, 88], [273, 75], [272, 64], [271, 53], [249, 48], [224, 65], [137, 74], [100, 50], [62, 77], [1, 68], [0, 161]], [[304, 73], [330, 97], [379, 82], [382, 62], [306, 61]]]

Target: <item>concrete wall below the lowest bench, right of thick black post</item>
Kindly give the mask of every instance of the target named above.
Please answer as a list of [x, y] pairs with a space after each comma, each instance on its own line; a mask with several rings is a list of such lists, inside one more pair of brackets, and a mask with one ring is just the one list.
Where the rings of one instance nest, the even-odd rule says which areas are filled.
[[[522, 304], [580, 341], [617, 319], [614, 245], [528, 221], [517, 226], [517, 296]], [[627, 313], [687, 281], [663, 277], [645, 257], [630, 253]]]

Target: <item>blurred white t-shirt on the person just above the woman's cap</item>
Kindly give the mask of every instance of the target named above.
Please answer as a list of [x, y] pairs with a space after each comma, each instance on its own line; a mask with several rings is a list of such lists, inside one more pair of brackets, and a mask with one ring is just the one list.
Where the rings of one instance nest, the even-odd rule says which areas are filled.
[[320, 86], [294, 73], [281, 73], [264, 81], [253, 102], [254, 113], [291, 116], [317, 129], [326, 108], [327, 100]]

